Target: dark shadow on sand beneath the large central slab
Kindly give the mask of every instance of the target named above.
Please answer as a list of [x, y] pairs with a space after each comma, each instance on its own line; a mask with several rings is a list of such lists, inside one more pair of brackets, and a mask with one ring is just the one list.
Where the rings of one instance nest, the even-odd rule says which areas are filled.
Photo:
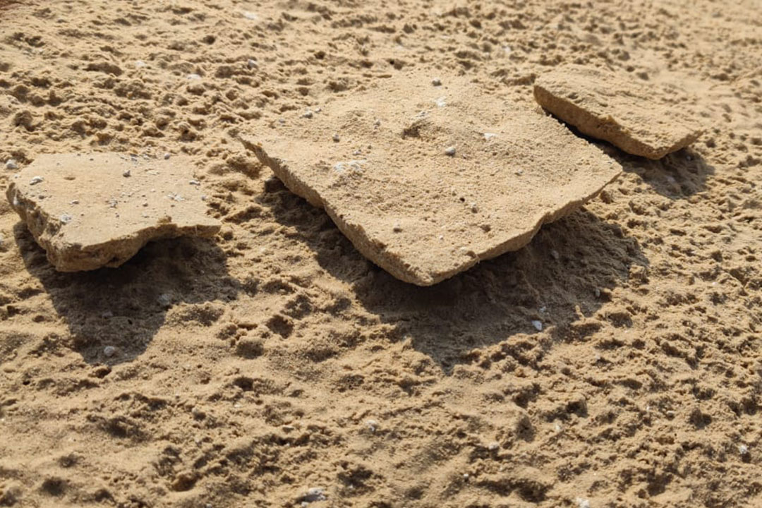
[[532, 321], [554, 326], [552, 340], [592, 333], [572, 325], [610, 299], [632, 265], [648, 265], [634, 238], [581, 209], [543, 226], [520, 251], [418, 287], [365, 260], [325, 212], [282, 185], [259, 202], [298, 230], [328, 273], [352, 285], [360, 305], [392, 326], [393, 339], [410, 339], [447, 373], [471, 361], [469, 351], [477, 347], [507, 341], [507, 348], [534, 348]]

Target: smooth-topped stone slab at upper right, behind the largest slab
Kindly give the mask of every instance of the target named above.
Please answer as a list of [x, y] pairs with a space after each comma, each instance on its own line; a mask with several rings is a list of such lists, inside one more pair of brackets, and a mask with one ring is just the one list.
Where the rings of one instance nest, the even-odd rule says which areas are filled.
[[659, 101], [660, 93], [658, 85], [632, 75], [581, 65], [562, 65], [534, 82], [536, 101], [555, 117], [651, 159], [685, 148], [702, 132], [677, 107]]

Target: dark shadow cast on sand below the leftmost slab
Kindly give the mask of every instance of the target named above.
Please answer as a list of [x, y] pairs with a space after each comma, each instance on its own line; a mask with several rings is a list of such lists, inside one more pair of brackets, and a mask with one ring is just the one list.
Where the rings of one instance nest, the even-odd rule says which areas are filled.
[[[177, 238], [149, 243], [118, 268], [60, 273], [19, 222], [14, 235], [24, 264], [66, 321], [74, 349], [91, 364], [130, 362], [145, 350], [171, 305], [229, 301], [239, 283], [213, 241]], [[107, 357], [104, 347], [118, 353]]]

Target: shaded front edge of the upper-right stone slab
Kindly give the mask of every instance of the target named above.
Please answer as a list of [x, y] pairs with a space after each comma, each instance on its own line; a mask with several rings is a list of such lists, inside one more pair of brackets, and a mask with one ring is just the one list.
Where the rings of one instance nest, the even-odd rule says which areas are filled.
[[[535, 81], [533, 94], [537, 104], [549, 111], [549, 113], [552, 113], [553, 116], [558, 117], [569, 125], [575, 126], [581, 133], [597, 139], [604, 139], [604, 141], [610, 142], [629, 154], [639, 155], [652, 160], [658, 160], [664, 157], [664, 155], [685, 148], [696, 141], [702, 134], [702, 131], [697, 129], [687, 136], [678, 139], [672, 145], [654, 148], [626, 134], [623, 126], [613, 117], [597, 117], [577, 104], [552, 94], [543, 87], [541, 79]], [[578, 121], [572, 122], [571, 118], [577, 118]]]

